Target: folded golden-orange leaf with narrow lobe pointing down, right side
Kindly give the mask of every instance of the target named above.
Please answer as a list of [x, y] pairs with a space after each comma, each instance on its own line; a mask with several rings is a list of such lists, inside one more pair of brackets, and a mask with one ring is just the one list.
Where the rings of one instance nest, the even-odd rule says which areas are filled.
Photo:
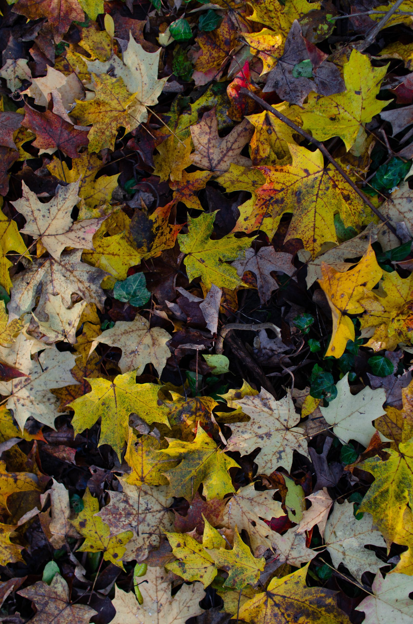
[[333, 316], [333, 332], [326, 356], [340, 358], [347, 340], [354, 340], [354, 324], [346, 314], [361, 314], [364, 308], [360, 300], [373, 288], [382, 276], [376, 254], [369, 245], [364, 256], [354, 268], [340, 273], [326, 263], [321, 265], [323, 279], [319, 285], [326, 293]]

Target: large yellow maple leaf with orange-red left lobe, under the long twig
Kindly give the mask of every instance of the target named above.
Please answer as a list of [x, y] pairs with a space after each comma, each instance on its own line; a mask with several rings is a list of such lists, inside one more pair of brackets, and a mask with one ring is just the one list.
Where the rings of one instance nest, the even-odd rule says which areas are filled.
[[281, 217], [292, 212], [286, 240], [301, 238], [313, 258], [326, 242], [337, 243], [334, 214], [340, 213], [346, 227], [360, 227], [364, 203], [336, 168], [324, 168], [323, 154], [289, 145], [291, 165], [258, 169], [266, 183], [257, 192], [251, 220], [270, 238]]

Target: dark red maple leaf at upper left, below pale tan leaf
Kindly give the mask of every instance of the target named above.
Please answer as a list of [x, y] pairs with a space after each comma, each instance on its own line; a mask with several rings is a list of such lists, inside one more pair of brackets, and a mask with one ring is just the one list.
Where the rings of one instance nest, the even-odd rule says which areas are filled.
[[77, 158], [79, 148], [89, 143], [85, 130], [76, 130], [72, 124], [50, 110], [39, 113], [26, 104], [22, 125], [36, 134], [33, 147], [41, 150], [57, 148], [70, 158]]

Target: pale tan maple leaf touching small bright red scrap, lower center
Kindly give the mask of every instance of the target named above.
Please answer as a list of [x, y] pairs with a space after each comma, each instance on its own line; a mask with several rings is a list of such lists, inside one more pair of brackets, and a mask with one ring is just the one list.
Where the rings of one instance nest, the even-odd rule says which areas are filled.
[[260, 550], [264, 552], [266, 548], [271, 548], [273, 531], [263, 520], [284, 515], [281, 503], [273, 500], [273, 494], [271, 490], [258, 492], [254, 484], [250, 483], [246, 487], [241, 487], [225, 508], [223, 526], [233, 530], [238, 526], [239, 531], [246, 530], [250, 535], [251, 548], [255, 555]]

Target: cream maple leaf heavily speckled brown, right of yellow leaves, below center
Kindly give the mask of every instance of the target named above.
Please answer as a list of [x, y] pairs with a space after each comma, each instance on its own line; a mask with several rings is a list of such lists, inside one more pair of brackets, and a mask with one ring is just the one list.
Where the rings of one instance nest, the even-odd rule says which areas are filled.
[[255, 462], [258, 472], [268, 475], [279, 466], [290, 470], [294, 450], [309, 457], [303, 431], [294, 427], [300, 418], [289, 392], [281, 401], [276, 401], [270, 392], [261, 389], [258, 396], [246, 396], [236, 404], [250, 416], [250, 421], [231, 423], [232, 434], [226, 451], [248, 455], [260, 447]]

